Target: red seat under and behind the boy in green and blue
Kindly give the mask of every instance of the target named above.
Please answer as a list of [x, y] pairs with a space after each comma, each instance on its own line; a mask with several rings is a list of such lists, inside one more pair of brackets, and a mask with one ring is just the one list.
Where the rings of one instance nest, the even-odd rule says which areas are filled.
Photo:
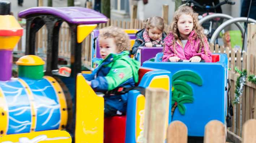
[[[140, 68], [138, 75], [139, 80], [136, 86], [140, 83], [145, 73], [152, 69]], [[104, 143], [124, 143], [125, 142], [125, 116], [113, 116], [104, 119]]]

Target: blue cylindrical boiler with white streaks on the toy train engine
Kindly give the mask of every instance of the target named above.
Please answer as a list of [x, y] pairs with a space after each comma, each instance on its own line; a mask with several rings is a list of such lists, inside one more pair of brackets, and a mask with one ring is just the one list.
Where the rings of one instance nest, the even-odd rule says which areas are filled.
[[0, 81], [0, 90], [8, 109], [7, 123], [1, 123], [7, 125], [6, 134], [60, 129], [60, 100], [55, 87], [47, 79]]

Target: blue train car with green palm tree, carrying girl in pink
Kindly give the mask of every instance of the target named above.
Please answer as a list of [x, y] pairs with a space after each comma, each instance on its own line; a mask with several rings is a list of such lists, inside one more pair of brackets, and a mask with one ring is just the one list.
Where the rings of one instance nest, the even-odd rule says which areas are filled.
[[172, 73], [171, 120], [182, 121], [189, 136], [203, 137], [210, 120], [226, 124], [228, 60], [225, 54], [213, 55], [219, 59], [216, 63], [145, 61], [142, 65]]

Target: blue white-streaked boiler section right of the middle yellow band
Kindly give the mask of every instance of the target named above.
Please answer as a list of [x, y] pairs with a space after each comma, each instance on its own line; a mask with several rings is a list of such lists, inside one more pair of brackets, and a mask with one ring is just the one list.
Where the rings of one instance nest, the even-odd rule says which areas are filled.
[[54, 88], [46, 80], [23, 79], [31, 89], [35, 108], [37, 110], [37, 124], [35, 131], [54, 130], [60, 125], [60, 104]]

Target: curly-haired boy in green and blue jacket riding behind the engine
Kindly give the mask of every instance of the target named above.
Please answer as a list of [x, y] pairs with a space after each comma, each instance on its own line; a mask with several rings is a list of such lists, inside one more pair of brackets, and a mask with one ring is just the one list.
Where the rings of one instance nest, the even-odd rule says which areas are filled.
[[106, 27], [99, 30], [100, 55], [92, 74], [83, 74], [86, 82], [96, 92], [104, 95], [104, 116], [122, 115], [126, 112], [127, 94], [110, 95], [118, 87], [132, 87], [138, 82], [140, 64], [129, 57], [130, 40], [121, 28]]

